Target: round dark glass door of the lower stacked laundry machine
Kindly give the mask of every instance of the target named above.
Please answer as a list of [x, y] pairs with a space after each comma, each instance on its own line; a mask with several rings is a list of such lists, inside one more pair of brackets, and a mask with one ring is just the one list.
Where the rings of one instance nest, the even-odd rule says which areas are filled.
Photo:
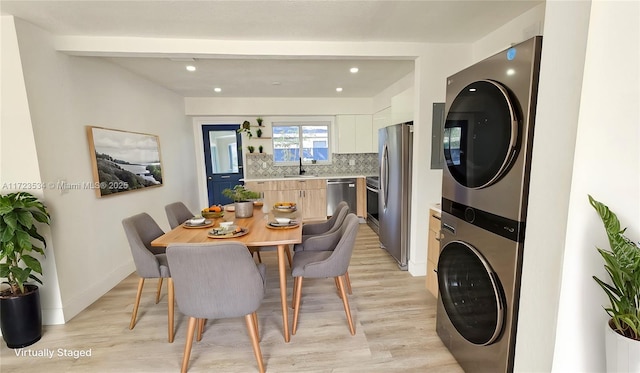
[[442, 248], [438, 287], [449, 320], [466, 340], [488, 345], [500, 336], [505, 318], [503, 290], [474, 247], [452, 241]]

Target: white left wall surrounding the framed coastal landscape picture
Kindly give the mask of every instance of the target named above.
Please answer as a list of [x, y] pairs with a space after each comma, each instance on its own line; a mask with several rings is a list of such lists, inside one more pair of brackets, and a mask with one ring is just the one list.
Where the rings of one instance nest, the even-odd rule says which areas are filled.
[[165, 204], [198, 206], [192, 133], [181, 97], [109, 62], [56, 52], [52, 36], [29, 23], [16, 20], [16, 29], [43, 182], [92, 181], [87, 125], [160, 138], [161, 187], [107, 198], [93, 190], [44, 191], [61, 312], [69, 320], [134, 270], [123, 218], [144, 211], [167, 229]]

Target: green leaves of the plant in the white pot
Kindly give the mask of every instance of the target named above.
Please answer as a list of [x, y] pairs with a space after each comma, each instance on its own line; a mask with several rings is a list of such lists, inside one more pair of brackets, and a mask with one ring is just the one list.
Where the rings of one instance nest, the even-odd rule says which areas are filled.
[[604, 290], [611, 307], [611, 316], [618, 333], [640, 340], [640, 247], [629, 240], [620, 221], [606, 205], [589, 196], [589, 203], [600, 215], [611, 250], [597, 248], [604, 260], [610, 283], [593, 276]]

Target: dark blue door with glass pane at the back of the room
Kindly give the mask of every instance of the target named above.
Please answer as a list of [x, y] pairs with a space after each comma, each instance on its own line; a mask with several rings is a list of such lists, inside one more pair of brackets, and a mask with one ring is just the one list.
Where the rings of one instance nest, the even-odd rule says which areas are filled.
[[222, 191], [243, 184], [240, 181], [243, 169], [239, 128], [238, 124], [202, 126], [209, 206], [233, 202], [223, 196]]

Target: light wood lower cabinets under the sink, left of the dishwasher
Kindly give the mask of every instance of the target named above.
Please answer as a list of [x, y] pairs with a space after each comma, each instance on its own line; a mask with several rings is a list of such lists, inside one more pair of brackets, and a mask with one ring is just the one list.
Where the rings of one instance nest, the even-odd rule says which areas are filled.
[[325, 179], [248, 181], [247, 189], [262, 192], [264, 203], [295, 202], [306, 221], [327, 219], [327, 181]]

